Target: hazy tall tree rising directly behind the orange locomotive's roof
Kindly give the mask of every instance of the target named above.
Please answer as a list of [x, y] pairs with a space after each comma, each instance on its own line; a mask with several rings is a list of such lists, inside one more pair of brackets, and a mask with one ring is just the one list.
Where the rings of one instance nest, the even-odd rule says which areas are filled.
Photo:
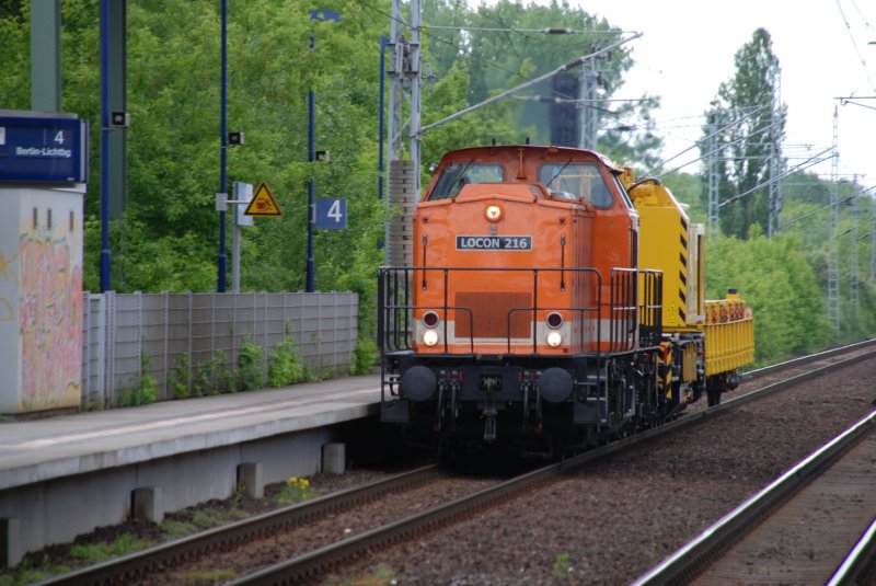
[[[426, 38], [426, 62], [441, 79], [454, 70], [469, 77], [465, 105], [483, 102], [487, 97], [517, 87], [526, 81], [552, 71], [583, 55], [603, 49], [622, 38], [619, 28], [604, 19], [597, 19], [580, 8], [567, 2], [551, 2], [548, 5], [523, 3], [512, 0], [482, 3], [475, 11], [464, 8], [459, 0], [427, 0], [424, 14], [430, 25], [442, 26], [428, 31]], [[463, 27], [459, 31], [456, 27]], [[587, 33], [544, 34], [545, 30], [574, 30]], [[587, 67], [598, 71], [598, 94], [610, 99], [623, 84], [623, 74], [633, 65], [626, 47], [616, 48], [600, 58], [589, 61]], [[573, 70], [576, 73], [577, 70]], [[544, 81], [520, 92], [518, 97], [533, 100], [553, 95], [551, 81]], [[577, 100], [577, 95], [561, 96]], [[633, 161], [653, 168], [658, 163], [661, 140], [656, 136], [649, 113], [659, 104], [658, 99], [643, 96], [641, 101], [618, 103], [607, 107], [596, 105], [600, 113], [600, 142], [598, 150], [618, 161]], [[496, 107], [495, 105], [489, 106]], [[509, 139], [522, 142], [550, 141], [549, 104], [526, 101], [520, 110]], [[427, 112], [424, 108], [425, 112]], [[428, 114], [426, 114], [428, 115]], [[466, 117], [466, 120], [469, 118]], [[471, 133], [470, 133], [471, 134]], [[499, 140], [502, 131], [487, 133], [476, 143]], [[466, 143], [471, 146], [472, 142]]]

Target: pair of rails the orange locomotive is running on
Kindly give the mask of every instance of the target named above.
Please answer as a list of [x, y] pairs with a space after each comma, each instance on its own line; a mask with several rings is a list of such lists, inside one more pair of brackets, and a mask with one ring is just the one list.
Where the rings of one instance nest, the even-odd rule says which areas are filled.
[[[775, 367], [754, 371], [750, 375], [750, 378], [751, 380], [765, 380], [769, 379], [769, 377], [774, 377], [776, 372], [781, 371], [783, 372], [782, 376], [787, 376], [788, 372], [792, 372], [794, 377], [791, 380], [793, 382], [799, 382], [802, 378], [818, 376], [819, 374], [823, 374], [829, 369], [840, 368], [858, 360], [872, 358], [876, 353], [874, 353], [871, 347], [854, 345], [846, 348], [839, 348], [837, 351], [832, 351], [831, 353], [812, 355], [804, 359], [784, 363], [782, 365], [776, 365]], [[840, 360], [838, 356], [842, 355], [843, 351], [845, 351], [845, 353], [852, 353], [853, 357], [848, 358], [846, 360]], [[818, 368], [814, 369], [811, 365], [818, 365]], [[807, 370], [807, 372], [796, 374], [796, 369], [804, 369]], [[312, 583], [314, 576], [324, 573], [337, 564], [344, 563], [344, 560], [355, 559], [356, 556], [359, 556], [364, 552], [367, 552], [371, 549], [396, 542], [399, 540], [411, 539], [415, 535], [429, 531], [446, 524], [451, 524], [454, 521], [454, 519], [465, 517], [472, 510], [494, 506], [516, 494], [530, 490], [533, 486], [550, 482], [551, 479], [558, 478], [564, 472], [579, 468], [588, 461], [601, 458], [607, 453], [624, 449], [639, 441], [647, 440], [648, 438], [661, 433], [666, 433], [673, 427], [688, 425], [718, 411], [735, 409], [735, 406], [747, 403], [748, 401], [752, 401], [757, 397], [775, 392], [787, 384], [788, 382], [783, 381], [773, 382], [761, 389], [760, 392], [738, 397], [731, 401], [726, 401], [724, 404], [718, 405], [717, 407], [680, 417], [679, 420], [660, 428], [637, 434], [636, 436], [625, 438], [603, 448], [588, 451], [573, 459], [565, 460], [564, 462], [529, 472], [506, 482], [497, 483], [494, 486], [489, 486], [476, 492], [473, 491], [471, 494], [450, 503], [430, 507], [427, 510], [413, 515], [408, 518], [395, 520], [384, 525], [383, 527], [362, 531], [333, 544], [315, 549], [314, 551], [298, 555], [289, 561], [266, 567], [250, 576], [239, 578], [237, 582], [233, 582], [233, 584], [268, 584], [279, 582]], [[157, 548], [145, 550], [137, 554], [127, 555], [112, 562], [82, 568], [70, 574], [58, 576], [56, 579], [48, 583], [106, 584], [114, 582], [141, 582], [143, 577], [154, 572], [155, 568], [166, 568], [168, 566], [180, 563], [181, 561], [196, 556], [203, 556], [210, 552], [228, 551], [232, 549], [235, 543], [257, 539], [263, 536], [278, 532], [286, 528], [295, 527], [304, 522], [311, 522], [312, 519], [320, 516], [330, 515], [344, 508], [357, 506], [358, 503], [368, 502], [369, 499], [373, 499], [380, 495], [392, 494], [396, 491], [408, 490], [412, 486], [422, 485], [438, 478], [440, 473], [441, 472], [437, 468], [427, 467], [425, 469], [414, 471], [411, 474], [404, 474], [400, 475], [399, 478], [389, 479], [387, 481], [376, 483], [374, 485], [369, 485], [362, 489], [353, 489], [345, 491], [344, 493], [314, 499], [296, 507], [288, 507], [287, 509], [265, 514], [253, 519], [246, 519], [237, 524], [205, 531], [183, 540], [159, 545]]]

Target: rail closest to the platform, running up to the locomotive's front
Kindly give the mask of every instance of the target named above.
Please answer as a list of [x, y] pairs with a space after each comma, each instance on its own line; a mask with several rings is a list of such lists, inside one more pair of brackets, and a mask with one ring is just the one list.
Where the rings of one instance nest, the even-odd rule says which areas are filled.
[[54, 576], [38, 583], [55, 584], [113, 584], [132, 583], [154, 567], [180, 560], [203, 555], [210, 551], [228, 549], [241, 541], [270, 535], [290, 527], [344, 510], [382, 495], [424, 484], [441, 475], [437, 464], [425, 466], [379, 480], [364, 486], [348, 489], [256, 515], [240, 521], [215, 527], [182, 539], [123, 555], [107, 562]]

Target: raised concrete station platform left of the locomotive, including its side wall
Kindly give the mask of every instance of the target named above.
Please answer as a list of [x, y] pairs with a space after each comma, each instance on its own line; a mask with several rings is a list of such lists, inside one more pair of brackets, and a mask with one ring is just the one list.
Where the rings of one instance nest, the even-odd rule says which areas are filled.
[[319, 472], [338, 425], [379, 409], [366, 376], [2, 423], [0, 563], [124, 521], [145, 487], [160, 513], [230, 496], [242, 464], [261, 483]]

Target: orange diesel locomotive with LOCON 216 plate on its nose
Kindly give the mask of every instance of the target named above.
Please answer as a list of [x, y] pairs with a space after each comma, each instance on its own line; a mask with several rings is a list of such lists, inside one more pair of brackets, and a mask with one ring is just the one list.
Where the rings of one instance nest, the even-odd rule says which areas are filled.
[[[636, 183], [595, 152], [447, 153], [416, 208], [413, 266], [380, 269], [381, 418], [412, 443], [558, 453], [655, 425], [706, 390], [716, 403], [750, 348], [707, 372], [698, 234], [659, 183]], [[645, 245], [666, 262], [641, 266]], [[683, 290], [668, 308], [664, 273], [679, 257], [671, 283]], [[690, 292], [693, 311], [679, 320], [676, 297]]]

